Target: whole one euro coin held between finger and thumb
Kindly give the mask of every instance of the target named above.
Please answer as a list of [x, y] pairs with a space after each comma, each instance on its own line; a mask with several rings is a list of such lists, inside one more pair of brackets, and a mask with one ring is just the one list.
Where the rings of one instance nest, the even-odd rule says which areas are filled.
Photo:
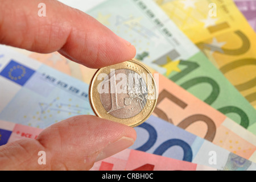
[[152, 114], [158, 89], [154, 76], [135, 60], [100, 68], [89, 86], [89, 100], [100, 118], [135, 127]]

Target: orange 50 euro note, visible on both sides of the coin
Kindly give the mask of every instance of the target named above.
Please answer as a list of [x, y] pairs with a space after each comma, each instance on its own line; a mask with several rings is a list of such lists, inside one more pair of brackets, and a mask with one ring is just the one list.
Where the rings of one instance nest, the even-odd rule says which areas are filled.
[[[96, 69], [71, 63], [57, 52], [39, 54], [20, 51], [87, 84], [89, 84], [96, 71]], [[256, 136], [254, 134], [168, 80], [168, 78], [155, 74], [157, 72], [154, 69], [147, 68], [150, 69], [153, 75], [159, 76], [159, 97], [154, 115], [198, 137], [205, 138], [234, 154], [256, 162]]]

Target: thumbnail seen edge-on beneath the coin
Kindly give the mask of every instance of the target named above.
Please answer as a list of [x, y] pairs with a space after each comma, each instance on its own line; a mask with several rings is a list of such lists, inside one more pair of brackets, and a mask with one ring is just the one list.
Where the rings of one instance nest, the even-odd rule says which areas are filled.
[[109, 156], [112, 156], [114, 154], [117, 154], [118, 152], [121, 152], [122, 150], [125, 150], [126, 148], [132, 146], [134, 143], [133, 138], [128, 137], [122, 137], [119, 140], [117, 140], [114, 143], [110, 143], [108, 146], [106, 146], [100, 154], [98, 154], [95, 162], [108, 158]]

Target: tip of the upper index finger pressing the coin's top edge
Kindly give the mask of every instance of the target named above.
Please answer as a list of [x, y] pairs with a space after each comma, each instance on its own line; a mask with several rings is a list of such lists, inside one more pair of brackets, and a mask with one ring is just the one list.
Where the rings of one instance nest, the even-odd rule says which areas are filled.
[[89, 68], [102, 68], [122, 63], [133, 59], [136, 55], [135, 46], [103, 25], [90, 36], [80, 39], [77, 42], [79, 43], [77, 46], [80, 47], [77, 48], [74, 48], [72, 40], [78, 40], [82, 35], [76, 35], [77, 38], [73, 35], [70, 37], [71, 40], [68, 40], [67, 44], [59, 50], [59, 53]]

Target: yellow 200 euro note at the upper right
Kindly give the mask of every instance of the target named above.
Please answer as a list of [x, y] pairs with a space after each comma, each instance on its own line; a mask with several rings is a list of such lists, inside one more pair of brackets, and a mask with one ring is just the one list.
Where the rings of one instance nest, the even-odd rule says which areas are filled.
[[156, 2], [256, 108], [256, 34], [234, 2]]

